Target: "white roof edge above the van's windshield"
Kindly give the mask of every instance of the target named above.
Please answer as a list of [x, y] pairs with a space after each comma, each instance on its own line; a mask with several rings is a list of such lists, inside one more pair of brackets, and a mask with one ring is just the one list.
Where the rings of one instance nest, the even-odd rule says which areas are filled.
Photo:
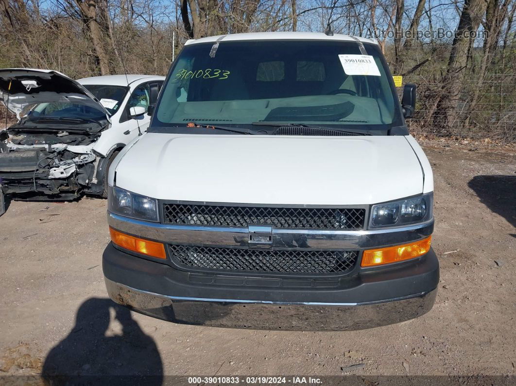
[[334, 33], [328, 36], [323, 32], [250, 32], [250, 33], [231, 33], [228, 35], [210, 36], [207, 38], [190, 39], [185, 45], [197, 43], [209, 43], [215, 41], [239, 41], [239, 40], [327, 40], [327, 41], [356, 41], [377, 44], [374, 39], [366, 39], [358, 36], [341, 35]]

